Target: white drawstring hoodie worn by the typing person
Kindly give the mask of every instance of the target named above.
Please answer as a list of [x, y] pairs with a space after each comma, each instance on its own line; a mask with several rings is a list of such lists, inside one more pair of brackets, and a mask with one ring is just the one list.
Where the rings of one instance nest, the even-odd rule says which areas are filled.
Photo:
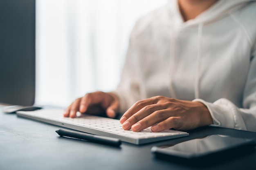
[[212, 126], [256, 132], [256, 2], [219, 0], [184, 22], [170, 0], [142, 17], [115, 93], [121, 112], [162, 95], [202, 102]]

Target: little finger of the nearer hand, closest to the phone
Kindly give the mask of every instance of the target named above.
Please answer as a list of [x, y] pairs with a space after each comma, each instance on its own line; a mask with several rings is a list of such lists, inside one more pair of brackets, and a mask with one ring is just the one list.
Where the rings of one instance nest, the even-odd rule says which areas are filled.
[[158, 124], [151, 127], [152, 132], [160, 132], [166, 129], [177, 129], [177, 130], [184, 130], [182, 129], [182, 121], [180, 117], [169, 117], [164, 121], [159, 122]]

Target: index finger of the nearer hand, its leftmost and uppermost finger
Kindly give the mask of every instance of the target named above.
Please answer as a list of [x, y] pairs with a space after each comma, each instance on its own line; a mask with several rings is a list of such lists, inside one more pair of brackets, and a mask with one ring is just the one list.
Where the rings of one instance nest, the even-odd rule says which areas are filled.
[[124, 113], [124, 115], [120, 119], [120, 123], [123, 124], [128, 118], [130, 118], [132, 115], [137, 113], [139, 110], [141, 110], [145, 106], [155, 104], [155, 103], [157, 102], [155, 102], [155, 99], [153, 97], [136, 102]]

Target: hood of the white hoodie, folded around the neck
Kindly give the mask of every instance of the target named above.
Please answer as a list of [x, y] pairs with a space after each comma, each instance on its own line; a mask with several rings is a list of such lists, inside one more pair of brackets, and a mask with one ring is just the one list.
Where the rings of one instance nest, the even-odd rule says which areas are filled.
[[171, 9], [170, 11], [172, 18], [175, 18], [174, 20], [176, 25], [184, 24], [184, 26], [198, 26], [200, 23], [207, 24], [213, 22], [218, 18], [245, 7], [248, 5], [248, 2], [252, 1], [256, 0], [218, 0], [209, 9], [198, 15], [195, 19], [188, 20], [187, 22], [183, 21], [177, 0], [169, 0], [168, 6]]

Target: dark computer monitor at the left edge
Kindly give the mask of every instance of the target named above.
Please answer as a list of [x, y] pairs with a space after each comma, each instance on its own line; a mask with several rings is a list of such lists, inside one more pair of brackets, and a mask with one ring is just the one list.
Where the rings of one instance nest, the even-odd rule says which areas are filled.
[[0, 0], [0, 103], [35, 99], [36, 0]]

